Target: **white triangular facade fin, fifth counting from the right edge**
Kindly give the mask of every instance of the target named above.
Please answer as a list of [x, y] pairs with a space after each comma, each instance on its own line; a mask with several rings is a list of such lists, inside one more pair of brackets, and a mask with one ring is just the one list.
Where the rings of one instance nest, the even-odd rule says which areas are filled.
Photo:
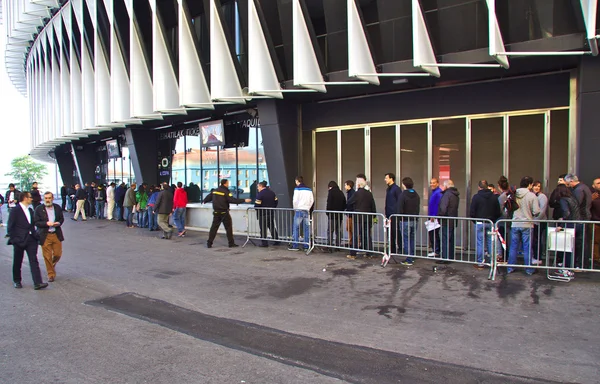
[[294, 85], [327, 92], [299, 0], [292, 1]]

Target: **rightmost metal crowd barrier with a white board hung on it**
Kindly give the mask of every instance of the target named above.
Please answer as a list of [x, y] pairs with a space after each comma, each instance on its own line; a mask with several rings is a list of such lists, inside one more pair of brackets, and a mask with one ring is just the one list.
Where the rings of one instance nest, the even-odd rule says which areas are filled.
[[600, 222], [498, 220], [495, 228], [502, 245], [496, 269], [545, 270], [548, 279], [567, 282], [574, 272], [600, 272]]

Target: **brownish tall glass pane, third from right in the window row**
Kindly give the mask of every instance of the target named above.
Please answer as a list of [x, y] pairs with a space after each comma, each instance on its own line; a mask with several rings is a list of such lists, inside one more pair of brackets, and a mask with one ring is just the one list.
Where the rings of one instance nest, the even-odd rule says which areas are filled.
[[471, 196], [479, 180], [496, 184], [503, 172], [504, 118], [471, 120]]

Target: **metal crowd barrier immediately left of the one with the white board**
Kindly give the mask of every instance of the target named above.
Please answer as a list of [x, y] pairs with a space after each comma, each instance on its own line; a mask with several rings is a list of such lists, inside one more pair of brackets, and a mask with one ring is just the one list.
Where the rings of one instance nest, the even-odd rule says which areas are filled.
[[391, 215], [389, 226], [389, 260], [413, 264], [414, 259], [429, 259], [439, 264], [467, 263], [478, 269], [489, 268], [489, 278], [494, 279], [493, 267], [498, 255], [494, 223], [461, 217]]

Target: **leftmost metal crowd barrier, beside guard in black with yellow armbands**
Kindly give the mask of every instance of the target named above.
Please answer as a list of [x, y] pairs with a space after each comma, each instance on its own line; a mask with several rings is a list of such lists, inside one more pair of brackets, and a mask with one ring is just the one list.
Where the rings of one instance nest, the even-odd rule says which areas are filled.
[[[246, 210], [246, 242], [258, 246], [280, 243], [309, 252], [311, 248], [311, 215], [309, 211], [293, 208], [256, 208]], [[254, 242], [257, 242], [255, 244]]]

